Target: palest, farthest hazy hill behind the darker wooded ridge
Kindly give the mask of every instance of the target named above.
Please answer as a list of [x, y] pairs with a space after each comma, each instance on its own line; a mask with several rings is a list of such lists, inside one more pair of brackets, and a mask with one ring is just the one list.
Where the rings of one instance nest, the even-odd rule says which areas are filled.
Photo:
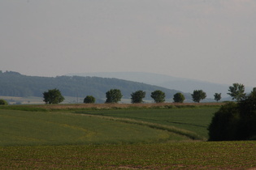
[[[215, 93], [221, 93], [223, 100], [231, 100], [228, 96], [228, 87], [232, 84], [219, 84], [203, 82], [196, 79], [176, 78], [164, 74], [154, 74], [145, 72], [96, 72], [96, 73], [72, 73], [67, 75], [79, 76], [96, 76], [102, 78], [125, 79], [129, 81], [147, 83], [177, 91], [193, 93], [194, 90], [203, 90], [206, 92], [207, 98], [214, 99]], [[245, 91], [249, 92], [252, 87], [245, 87]]]

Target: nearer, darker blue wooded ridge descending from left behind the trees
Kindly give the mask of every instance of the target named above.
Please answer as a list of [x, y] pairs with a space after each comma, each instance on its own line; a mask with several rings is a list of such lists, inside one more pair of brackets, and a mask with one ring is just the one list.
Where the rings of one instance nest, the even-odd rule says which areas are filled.
[[[38, 96], [49, 89], [58, 88], [63, 96], [85, 97], [94, 96], [98, 103], [103, 103], [106, 91], [118, 88], [122, 91], [123, 98], [130, 100], [131, 94], [137, 90], [146, 92], [145, 100], [152, 102], [150, 94], [152, 91], [161, 90], [166, 93], [166, 100], [172, 101], [177, 90], [158, 87], [146, 83], [132, 82], [115, 78], [81, 77], [81, 76], [57, 76], [38, 77], [27, 76], [13, 71], [2, 73], [0, 71], [0, 96]], [[191, 101], [191, 95], [184, 93], [186, 102]], [[207, 100], [205, 100], [207, 101]]]

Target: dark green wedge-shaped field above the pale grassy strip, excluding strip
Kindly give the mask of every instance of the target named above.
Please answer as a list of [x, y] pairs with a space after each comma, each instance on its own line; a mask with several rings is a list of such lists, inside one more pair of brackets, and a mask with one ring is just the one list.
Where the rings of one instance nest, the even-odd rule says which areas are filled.
[[208, 138], [207, 127], [218, 107], [94, 110], [77, 113], [128, 118], [158, 125], [175, 126]]

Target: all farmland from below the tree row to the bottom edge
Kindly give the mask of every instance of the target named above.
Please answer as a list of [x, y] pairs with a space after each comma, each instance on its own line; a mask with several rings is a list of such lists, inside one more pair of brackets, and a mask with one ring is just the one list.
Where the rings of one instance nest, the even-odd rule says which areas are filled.
[[216, 104], [0, 107], [0, 168], [249, 169], [256, 142], [206, 142]]

